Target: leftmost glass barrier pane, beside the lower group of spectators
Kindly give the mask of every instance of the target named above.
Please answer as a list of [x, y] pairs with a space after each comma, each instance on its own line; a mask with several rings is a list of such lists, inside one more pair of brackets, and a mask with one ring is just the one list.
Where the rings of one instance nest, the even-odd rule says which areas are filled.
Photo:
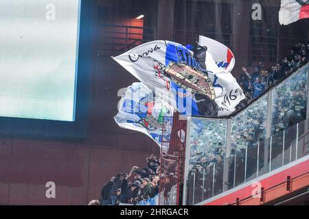
[[[227, 146], [227, 120], [192, 118], [190, 124], [189, 203], [200, 203], [223, 190], [222, 164]], [[215, 168], [215, 169], [214, 169]], [[191, 179], [194, 177], [194, 179]], [[193, 197], [192, 197], [193, 196]]]

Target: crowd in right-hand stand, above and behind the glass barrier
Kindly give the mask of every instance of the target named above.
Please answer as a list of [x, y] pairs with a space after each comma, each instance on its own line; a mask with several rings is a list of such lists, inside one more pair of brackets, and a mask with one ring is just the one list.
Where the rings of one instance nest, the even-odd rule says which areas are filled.
[[[291, 49], [290, 55], [284, 57], [279, 64], [271, 66], [271, 68], [255, 66], [255, 70], [249, 73], [247, 68], [243, 67], [243, 74], [238, 83], [244, 91], [246, 99], [236, 107], [236, 111], [248, 107], [269, 88], [276, 86], [308, 62], [309, 42], [298, 42]], [[299, 73], [281, 86], [277, 86], [273, 92], [272, 134], [306, 119], [307, 80], [307, 74]], [[233, 179], [233, 168], [236, 164], [238, 170], [236, 185], [242, 183], [245, 180], [244, 177], [247, 179], [255, 177], [258, 142], [266, 138], [267, 102], [267, 96], [259, 99], [232, 120], [229, 179]], [[211, 120], [192, 120], [189, 177], [194, 175], [192, 187], [195, 185], [196, 191], [203, 187], [203, 192], [205, 192], [208, 187], [215, 190], [216, 194], [216, 189], [222, 189], [223, 183], [227, 124], [218, 120], [214, 120], [214, 123], [216, 124], [211, 125]], [[248, 164], [246, 176], [244, 175], [245, 159]], [[233, 181], [229, 181], [229, 187], [231, 186], [233, 186]], [[195, 193], [195, 199], [198, 199], [199, 193], [201, 192]], [[203, 194], [203, 198], [211, 195], [213, 194]]]

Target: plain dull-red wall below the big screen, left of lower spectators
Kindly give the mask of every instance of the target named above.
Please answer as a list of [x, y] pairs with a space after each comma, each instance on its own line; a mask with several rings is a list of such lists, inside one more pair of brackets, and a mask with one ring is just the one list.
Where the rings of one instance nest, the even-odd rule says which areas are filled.
[[[86, 205], [117, 172], [146, 166], [152, 152], [50, 143], [1, 139], [0, 205]], [[56, 183], [56, 198], [45, 196], [48, 181]]]

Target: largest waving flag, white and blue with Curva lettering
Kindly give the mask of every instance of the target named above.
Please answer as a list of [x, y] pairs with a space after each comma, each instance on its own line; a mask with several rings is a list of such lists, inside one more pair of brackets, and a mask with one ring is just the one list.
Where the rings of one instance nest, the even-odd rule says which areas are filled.
[[181, 114], [227, 116], [244, 99], [236, 79], [218, 67], [206, 47], [196, 47], [194, 53], [176, 42], [158, 40], [113, 58]]

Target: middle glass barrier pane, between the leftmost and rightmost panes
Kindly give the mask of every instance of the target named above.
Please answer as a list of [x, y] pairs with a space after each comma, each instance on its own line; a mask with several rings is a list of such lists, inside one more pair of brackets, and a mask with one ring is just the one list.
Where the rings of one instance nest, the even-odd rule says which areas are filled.
[[232, 120], [231, 155], [236, 153], [235, 186], [257, 175], [258, 140], [266, 138], [267, 97], [265, 95]]

